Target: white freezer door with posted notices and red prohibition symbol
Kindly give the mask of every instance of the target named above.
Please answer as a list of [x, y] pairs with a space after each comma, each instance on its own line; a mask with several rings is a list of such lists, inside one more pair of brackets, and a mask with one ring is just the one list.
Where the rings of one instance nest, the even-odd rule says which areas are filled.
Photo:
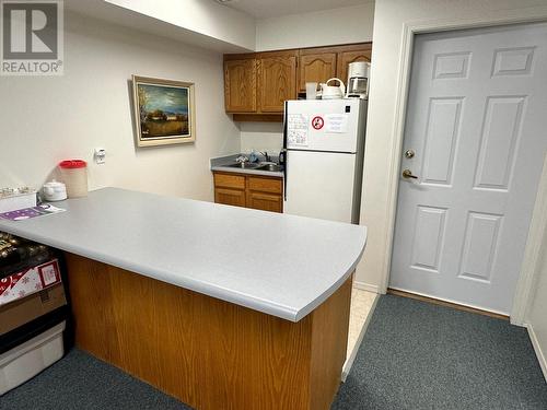
[[[360, 99], [288, 101], [286, 148], [289, 150], [353, 153], [358, 150]], [[361, 138], [364, 136], [361, 136]]]

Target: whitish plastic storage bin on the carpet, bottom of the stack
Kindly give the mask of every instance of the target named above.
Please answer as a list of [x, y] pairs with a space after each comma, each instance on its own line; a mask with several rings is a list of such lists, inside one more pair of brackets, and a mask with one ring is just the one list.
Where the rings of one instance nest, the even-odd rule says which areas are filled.
[[0, 396], [62, 358], [63, 330], [65, 321], [0, 355]]

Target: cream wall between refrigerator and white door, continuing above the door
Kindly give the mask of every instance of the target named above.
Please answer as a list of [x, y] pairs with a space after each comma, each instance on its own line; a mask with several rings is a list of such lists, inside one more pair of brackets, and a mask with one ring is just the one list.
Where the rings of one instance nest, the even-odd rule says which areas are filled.
[[361, 222], [369, 241], [357, 281], [383, 286], [391, 258], [396, 202], [392, 163], [399, 161], [399, 107], [403, 33], [407, 24], [462, 26], [547, 17], [545, 0], [377, 0], [374, 13], [371, 93]]

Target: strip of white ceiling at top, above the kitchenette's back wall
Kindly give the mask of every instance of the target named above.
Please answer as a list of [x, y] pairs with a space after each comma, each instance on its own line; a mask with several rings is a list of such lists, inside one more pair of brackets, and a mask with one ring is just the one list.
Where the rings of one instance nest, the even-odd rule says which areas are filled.
[[224, 4], [256, 19], [278, 17], [311, 11], [371, 3], [374, 0], [230, 0]]

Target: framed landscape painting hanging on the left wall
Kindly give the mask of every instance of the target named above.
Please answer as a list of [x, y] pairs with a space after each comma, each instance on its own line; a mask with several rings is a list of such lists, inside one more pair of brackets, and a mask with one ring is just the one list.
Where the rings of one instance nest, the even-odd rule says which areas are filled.
[[138, 147], [194, 142], [194, 83], [132, 75]]

